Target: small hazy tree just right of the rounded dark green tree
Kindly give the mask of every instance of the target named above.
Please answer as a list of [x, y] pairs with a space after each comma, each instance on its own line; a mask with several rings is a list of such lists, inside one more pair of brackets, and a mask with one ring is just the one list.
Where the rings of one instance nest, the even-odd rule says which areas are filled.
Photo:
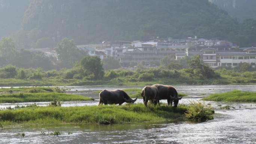
[[103, 59], [103, 67], [104, 70], [120, 68], [120, 61], [119, 59], [115, 59], [113, 56], [109, 56]]

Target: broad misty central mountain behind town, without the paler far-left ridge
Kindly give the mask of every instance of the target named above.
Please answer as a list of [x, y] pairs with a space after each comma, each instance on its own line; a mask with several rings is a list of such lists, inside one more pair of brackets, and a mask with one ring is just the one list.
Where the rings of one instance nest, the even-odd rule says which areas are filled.
[[22, 21], [22, 31], [38, 33], [34, 43], [63, 37], [77, 44], [156, 36], [232, 39], [237, 27], [208, 0], [34, 0]]

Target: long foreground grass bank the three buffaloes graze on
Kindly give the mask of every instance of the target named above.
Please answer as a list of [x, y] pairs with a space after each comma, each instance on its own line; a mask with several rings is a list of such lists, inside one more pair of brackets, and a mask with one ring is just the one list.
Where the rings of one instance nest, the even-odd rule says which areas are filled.
[[83, 107], [26, 107], [0, 110], [3, 125], [50, 125], [64, 123], [132, 123], [158, 122], [183, 117], [186, 105], [145, 107], [144, 104], [100, 105]]

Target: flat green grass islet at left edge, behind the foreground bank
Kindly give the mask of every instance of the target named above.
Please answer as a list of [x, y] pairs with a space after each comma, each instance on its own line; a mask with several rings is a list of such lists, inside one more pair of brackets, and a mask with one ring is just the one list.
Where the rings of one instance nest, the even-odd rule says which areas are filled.
[[58, 99], [60, 101], [88, 101], [93, 100], [92, 98], [74, 95], [64, 94], [55, 92], [46, 93], [12, 93], [12, 94], [1, 94], [0, 103], [14, 103], [14, 102], [44, 102]]

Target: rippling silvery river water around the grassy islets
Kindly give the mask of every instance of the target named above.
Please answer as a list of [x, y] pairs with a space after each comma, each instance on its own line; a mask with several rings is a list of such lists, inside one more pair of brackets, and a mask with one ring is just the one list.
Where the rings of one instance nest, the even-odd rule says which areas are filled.
[[[256, 92], [255, 85], [243, 86], [175, 86], [178, 92], [189, 96], [179, 101], [179, 104], [188, 104], [189, 101], [200, 100], [203, 95], [216, 92], [226, 92], [233, 89]], [[135, 88], [122, 87], [85, 87], [70, 86], [68, 93], [81, 94], [95, 98], [95, 101], [64, 102], [63, 106], [97, 105], [98, 94], [92, 90]], [[142, 102], [138, 99], [137, 102]], [[162, 100], [162, 102], [166, 102]], [[49, 102], [37, 102], [37, 105], [47, 105]], [[210, 103], [216, 115], [214, 120], [195, 123], [187, 120], [173, 120], [161, 123], [131, 123], [115, 125], [57, 125], [57, 126], [26, 126], [0, 129], [0, 143], [4, 144], [256, 144], [256, 103]], [[0, 108], [14, 107], [15, 105], [29, 105], [31, 103], [0, 104]], [[231, 110], [220, 110], [217, 104], [232, 105]], [[68, 135], [40, 135], [42, 132], [72, 132]], [[17, 136], [24, 132], [25, 137]]]

